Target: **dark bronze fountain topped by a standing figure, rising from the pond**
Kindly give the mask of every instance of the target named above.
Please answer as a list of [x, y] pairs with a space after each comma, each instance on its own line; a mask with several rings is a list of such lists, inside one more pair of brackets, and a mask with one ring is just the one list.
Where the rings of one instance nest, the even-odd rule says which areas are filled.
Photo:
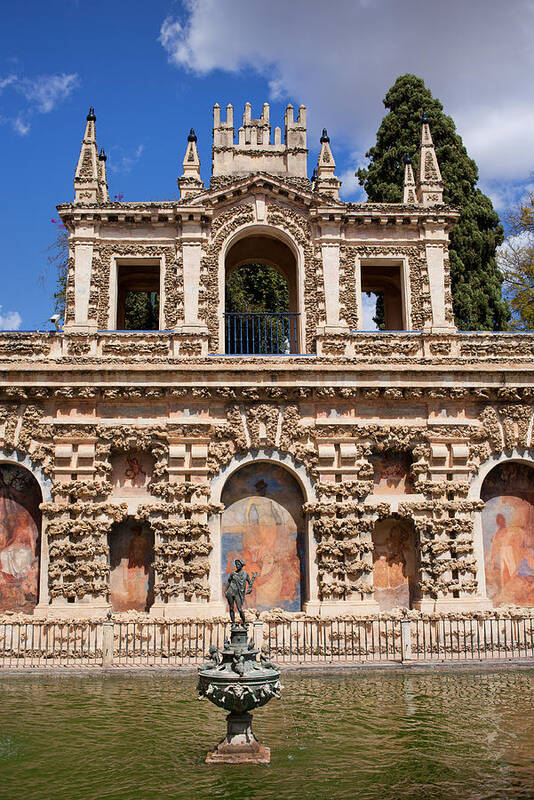
[[[243, 604], [256, 575], [251, 578], [244, 566], [236, 559], [236, 569], [230, 574], [225, 591], [232, 621], [230, 640], [225, 640], [222, 650], [212, 645], [208, 660], [198, 670], [199, 700], [207, 697], [230, 712], [225, 738], [206, 757], [209, 764], [268, 764], [271, 759], [269, 748], [260, 744], [252, 732], [249, 712], [272, 697], [280, 697], [280, 671], [255, 648], [252, 639], [248, 640]], [[236, 608], [241, 624], [235, 621]]]

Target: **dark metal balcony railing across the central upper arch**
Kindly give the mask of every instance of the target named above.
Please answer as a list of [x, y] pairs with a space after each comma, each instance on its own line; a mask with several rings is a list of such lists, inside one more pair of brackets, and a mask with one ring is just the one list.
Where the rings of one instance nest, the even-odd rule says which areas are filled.
[[290, 355], [298, 353], [299, 314], [225, 314], [228, 355]]

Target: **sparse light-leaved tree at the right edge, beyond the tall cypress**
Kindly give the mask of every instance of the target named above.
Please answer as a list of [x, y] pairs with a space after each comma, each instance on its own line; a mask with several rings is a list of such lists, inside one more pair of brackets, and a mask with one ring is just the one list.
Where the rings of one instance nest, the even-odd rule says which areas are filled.
[[509, 214], [510, 236], [499, 252], [513, 330], [534, 330], [534, 193]]

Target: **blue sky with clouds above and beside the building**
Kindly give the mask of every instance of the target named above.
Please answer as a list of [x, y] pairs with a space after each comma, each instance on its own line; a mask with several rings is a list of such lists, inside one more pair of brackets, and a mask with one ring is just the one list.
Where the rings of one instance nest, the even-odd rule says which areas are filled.
[[[268, 10], [267, 10], [268, 9]], [[215, 102], [245, 101], [273, 127], [308, 107], [309, 173], [327, 127], [345, 199], [405, 72], [445, 105], [499, 212], [532, 187], [533, 0], [183, 0], [11, 3], [0, 28], [0, 329], [50, 327], [45, 279], [55, 206], [72, 180], [87, 110], [110, 194], [177, 197], [189, 128], [209, 181]]]

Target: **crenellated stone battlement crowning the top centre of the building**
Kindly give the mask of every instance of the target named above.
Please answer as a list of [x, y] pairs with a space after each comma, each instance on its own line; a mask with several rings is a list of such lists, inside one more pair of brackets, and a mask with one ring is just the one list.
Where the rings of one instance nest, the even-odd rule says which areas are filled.
[[293, 106], [287, 106], [283, 142], [282, 130], [278, 126], [271, 137], [268, 103], [263, 104], [259, 119], [252, 118], [252, 106], [245, 103], [237, 142], [233, 106], [228, 104], [226, 107], [225, 121], [221, 120], [219, 104], [213, 107], [213, 177], [268, 172], [271, 175], [307, 178], [307, 157], [305, 106], [300, 106], [296, 121]]

